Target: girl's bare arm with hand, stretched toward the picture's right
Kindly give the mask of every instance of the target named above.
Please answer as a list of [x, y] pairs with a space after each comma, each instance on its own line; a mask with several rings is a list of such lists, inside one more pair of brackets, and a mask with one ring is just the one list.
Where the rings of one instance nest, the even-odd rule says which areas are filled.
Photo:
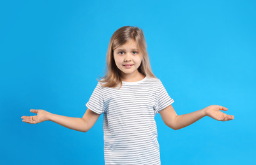
[[227, 111], [227, 108], [220, 105], [210, 105], [204, 109], [177, 116], [172, 105], [169, 105], [169, 107], [161, 110], [160, 114], [163, 122], [165, 122], [167, 126], [177, 130], [193, 124], [204, 116], [209, 116], [213, 119], [216, 119], [217, 121], [229, 121], [234, 119], [234, 116], [224, 114], [223, 112], [220, 112], [220, 110]]

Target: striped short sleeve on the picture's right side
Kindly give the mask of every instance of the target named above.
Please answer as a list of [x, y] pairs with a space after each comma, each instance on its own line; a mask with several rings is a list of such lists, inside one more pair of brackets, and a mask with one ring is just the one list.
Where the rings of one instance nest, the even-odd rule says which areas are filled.
[[160, 110], [165, 109], [169, 105], [174, 102], [172, 98], [168, 95], [165, 87], [163, 86], [162, 82], [160, 81], [160, 88], [158, 91], [158, 98], [156, 100], [156, 109], [155, 113], [158, 114]]

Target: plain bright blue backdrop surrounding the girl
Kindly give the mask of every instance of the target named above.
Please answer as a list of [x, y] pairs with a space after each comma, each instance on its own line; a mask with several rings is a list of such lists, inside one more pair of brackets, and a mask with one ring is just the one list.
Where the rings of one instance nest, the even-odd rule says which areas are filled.
[[103, 164], [102, 116], [87, 133], [27, 124], [29, 109], [82, 117], [110, 37], [144, 30], [177, 114], [227, 107], [174, 131], [156, 115], [162, 164], [255, 164], [255, 1], [2, 1], [0, 164]]

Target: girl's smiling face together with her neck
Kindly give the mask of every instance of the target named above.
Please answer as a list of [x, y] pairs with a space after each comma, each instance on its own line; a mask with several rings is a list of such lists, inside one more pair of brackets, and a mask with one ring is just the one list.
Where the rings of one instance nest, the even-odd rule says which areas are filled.
[[114, 49], [114, 60], [117, 68], [121, 70], [121, 78], [127, 80], [141, 77], [138, 68], [142, 62], [142, 55], [135, 41], [130, 40]]

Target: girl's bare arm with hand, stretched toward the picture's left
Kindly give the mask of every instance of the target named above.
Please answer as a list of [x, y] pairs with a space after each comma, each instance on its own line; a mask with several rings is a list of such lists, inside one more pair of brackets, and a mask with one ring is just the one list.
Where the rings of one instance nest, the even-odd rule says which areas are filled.
[[30, 112], [36, 113], [36, 116], [22, 116], [23, 122], [30, 124], [36, 124], [43, 121], [53, 121], [66, 128], [74, 129], [77, 131], [86, 132], [93, 127], [95, 122], [100, 117], [100, 114], [96, 114], [90, 109], [86, 110], [86, 113], [82, 118], [79, 117], [66, 117], [56, 114], [52, 114], [42, 109], [31, 109]]

